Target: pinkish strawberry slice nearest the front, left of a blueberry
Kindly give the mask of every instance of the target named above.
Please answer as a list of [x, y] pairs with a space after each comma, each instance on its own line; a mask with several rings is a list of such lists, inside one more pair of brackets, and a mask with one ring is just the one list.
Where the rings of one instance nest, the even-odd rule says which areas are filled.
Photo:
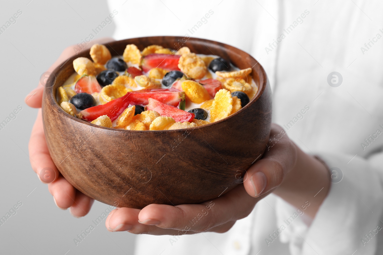
[[[88, 108], [90, 109], [90, 108]], [[154, 110], [161, 116], [172, 117], [176, 122], [191, 122], [194, 119], [194, 114], [191, 112], [185, 112], [169, 104], [163, 104], [158, 100], [149, 98], [149, 104], [146, 106], [147, 110]]]

